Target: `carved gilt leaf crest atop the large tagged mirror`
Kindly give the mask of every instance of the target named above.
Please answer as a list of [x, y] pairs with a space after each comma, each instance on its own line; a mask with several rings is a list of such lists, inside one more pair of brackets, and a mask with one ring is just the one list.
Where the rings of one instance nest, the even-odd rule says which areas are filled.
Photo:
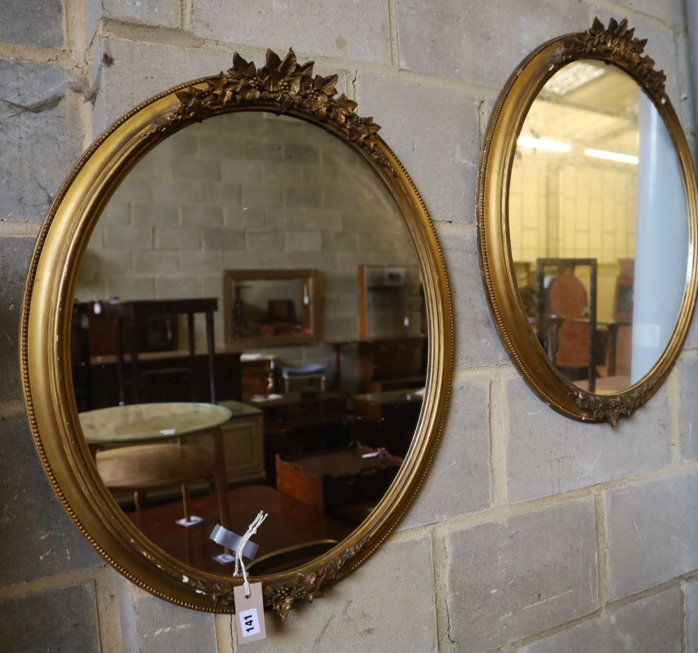
[[338, 76], [313, 77], [313, 65], [313, 61], [297, 63], [292, 49], [283, 61], [276, 52], [267, 50], [265, 66], [258, 69], [235, 52], [232, 68], [205, 80], [207, 88], [192, 86], [177, 91], [177, 108], [156, 121], [147, 135], [171, 133], [224, 112], [226, 107], [269, 105], [281, 114], [290, 109], [299, 110], [312, 114], [319, 121], [332, 123], [346, 140], [362, 147], [371, 158], [394, 173], [383, 152], [376, 147], [380, 125], [371, 117], [359, 117], [357, 103], [344, 93], [335, 97]]

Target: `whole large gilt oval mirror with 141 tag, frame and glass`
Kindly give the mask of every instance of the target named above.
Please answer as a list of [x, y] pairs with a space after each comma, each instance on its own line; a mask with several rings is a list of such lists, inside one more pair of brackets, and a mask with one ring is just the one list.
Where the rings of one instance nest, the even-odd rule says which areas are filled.
[[[443, 422], [451, 313], [424, 204], [292, 51], [165, 91], [84, 154], [45, 220], [22, 374], [45, 471], [127, 578], [282, 617], [376, 549]], [[218, 528], [222, 527], [222, 528]], [[215, 531], [215, 532], [214, 532]], [[223, 534], [223, 536], [221, 536]]]

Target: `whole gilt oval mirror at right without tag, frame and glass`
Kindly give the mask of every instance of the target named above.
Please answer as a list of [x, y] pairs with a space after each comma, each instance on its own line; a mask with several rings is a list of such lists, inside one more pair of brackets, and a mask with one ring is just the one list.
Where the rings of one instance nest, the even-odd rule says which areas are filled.
[[501, 93], [480, 165], [480, 263], [528, 384], [615, 426], [658, 389], [696, 295], [695, 173], [644, 41], [611, 20], [542, 45]]

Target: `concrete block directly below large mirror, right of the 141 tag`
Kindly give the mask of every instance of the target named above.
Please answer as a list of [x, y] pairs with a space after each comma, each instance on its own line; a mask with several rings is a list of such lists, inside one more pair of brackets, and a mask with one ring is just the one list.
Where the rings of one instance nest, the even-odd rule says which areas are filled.
[[[396, 600], [399, 597], [399, 600]], [[236, 642], [235, 650], [241, 643]], [[281, 624], [267, 617], [255, 653], [436, 653], [431, 538], [387, 541], [371, 560], [311, 606], [296, 603]]]

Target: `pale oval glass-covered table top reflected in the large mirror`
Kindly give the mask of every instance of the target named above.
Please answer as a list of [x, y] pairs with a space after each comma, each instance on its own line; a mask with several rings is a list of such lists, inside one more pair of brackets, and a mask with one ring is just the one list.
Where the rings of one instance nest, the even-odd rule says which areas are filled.
[[80, 413], [90, 443], [160, 440], [199, 433], [228, 421], [229, 408], [210, 403], [169, 402], [98, 408]]

